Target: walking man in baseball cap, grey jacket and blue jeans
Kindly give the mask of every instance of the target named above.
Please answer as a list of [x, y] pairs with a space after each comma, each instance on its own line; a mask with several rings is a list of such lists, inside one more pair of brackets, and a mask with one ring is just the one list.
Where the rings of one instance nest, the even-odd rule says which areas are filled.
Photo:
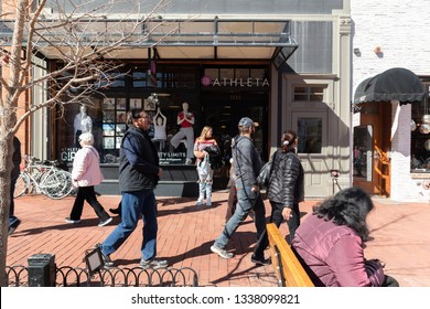
[[[233, 257], [233, 253], [227, 252], [225, 248], [239, 224], [251, 210], [255, 212], [257, 239], [266, 231], [266, 210], [259, 192], [260, 188], [257, 183], [257, 177], [262, 167], [262, 162], [260, 154], [252, 143], [252, 135], [256, 126], [258, 124], [254, 122], [250, 118], [241, 118], [238, 125], [239, 136], [232, 141], [235, 187], [237, 192], [236, 211], [211, 247], [213, 253], [216, 253], [223, 258]], [[251, 259], [258, 265], [269, 264], [265, 259]]]

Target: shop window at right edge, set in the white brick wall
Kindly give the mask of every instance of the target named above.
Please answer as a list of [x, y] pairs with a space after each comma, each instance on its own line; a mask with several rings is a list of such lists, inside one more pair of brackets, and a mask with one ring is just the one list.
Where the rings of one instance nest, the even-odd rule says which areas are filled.
[[411, 172], [430, 172], [430, 81], [423, 83], [428, 94], [420, 104], [412, 104]]

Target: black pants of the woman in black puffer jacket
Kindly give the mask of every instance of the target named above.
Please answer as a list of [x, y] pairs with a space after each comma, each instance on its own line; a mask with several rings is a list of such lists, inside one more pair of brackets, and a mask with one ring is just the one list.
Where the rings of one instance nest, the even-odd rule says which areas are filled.
[[[280, 203], [276, 203], [270, 201], [271, 204], [271, 215], [270, 223], [275, 223], [277, 227], [279, 227], [283, 221], [282, 210], [283, 205]], [[300, 225], [300, 210], [299, 204], [294, 204], [291, 210], [291, 217], [287, 221], [288, 230], [290, 231], [289, 243], [291, 244], [292, 238], [295, 235], [295, 230]], [[257, 246], [254, 249], [254, 257], [257, 259], [265, 258], [265, 249], [269, 245], [269, 238], [267, 236], [267, 230], [262, 233], [261, 237], [258, 239]]]

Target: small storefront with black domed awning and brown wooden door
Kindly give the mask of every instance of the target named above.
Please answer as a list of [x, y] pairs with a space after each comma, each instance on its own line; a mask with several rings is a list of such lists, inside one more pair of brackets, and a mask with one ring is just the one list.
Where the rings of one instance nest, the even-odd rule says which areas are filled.
[[[396, 200], [421, 194], [430, 179], [429, 81], [395, 67], [363, 81], [354, 95], [354, 185]], [[410, 148], [408, 148], [410, 145]], [[418, 185], [417, 185], [418, 184]], [[419, 193], [418, 193], [419, 194]]]

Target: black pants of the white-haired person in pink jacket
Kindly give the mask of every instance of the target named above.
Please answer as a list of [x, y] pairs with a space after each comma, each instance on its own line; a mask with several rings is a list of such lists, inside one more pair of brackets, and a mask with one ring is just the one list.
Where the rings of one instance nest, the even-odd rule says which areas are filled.
[[87, 201], [88, 204], [94, 209], [94, 211], [96, 212], [100, 221], [106, 221], [109, 219], [109, 214], [97, 201], [96, 192], [94, 191], [94, 185], [92, 185], [92, 187], [79, 187], [77, 189], [75, 203], [73, 204], [73, 209], [71, 212], [72, 220], [80, 220], [85, 201]]

